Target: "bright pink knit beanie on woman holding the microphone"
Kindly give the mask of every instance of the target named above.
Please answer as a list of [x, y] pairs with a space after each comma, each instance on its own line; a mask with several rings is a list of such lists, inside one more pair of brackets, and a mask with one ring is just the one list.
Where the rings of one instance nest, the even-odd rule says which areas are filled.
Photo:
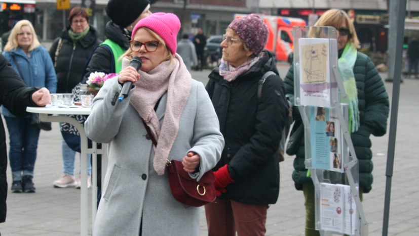
[[177, 48], [177, 33], [180, 29], [179, 18], [172, 13], [157, 12], [138, 21], [132, 30], [131, 38], [141, 27], [147, 27], [156, 32], [170, 49], [173, 55], [176, 53]]

